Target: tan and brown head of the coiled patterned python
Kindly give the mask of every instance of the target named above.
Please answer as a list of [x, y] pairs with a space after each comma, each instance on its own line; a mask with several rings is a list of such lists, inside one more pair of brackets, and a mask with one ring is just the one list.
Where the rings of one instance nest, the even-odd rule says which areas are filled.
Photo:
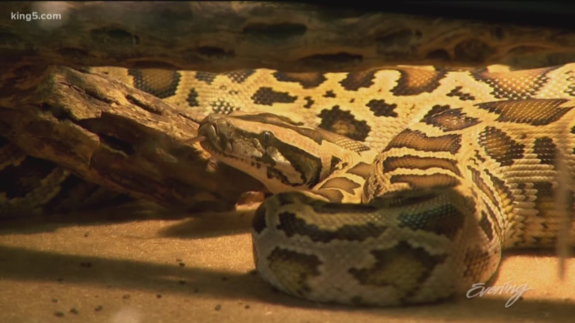
[[270, 113], [212, 114], [198, 136], [214, 159], [255, 177], [272, 193], [311, 189], [328, 175], [329, 152], [339, 148], [329, 149], [333, 144], [319, 130]]

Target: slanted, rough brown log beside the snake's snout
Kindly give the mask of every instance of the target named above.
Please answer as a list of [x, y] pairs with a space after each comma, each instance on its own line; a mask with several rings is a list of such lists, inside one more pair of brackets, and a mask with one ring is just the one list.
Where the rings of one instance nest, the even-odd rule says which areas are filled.
[[[44, 78], [36, 85], [26, 76], [5, 79], [0, 134], [32, 156], [175, 209], [229, 209], [244, 191], [263, 189], [210, 163], [189, 143], [198, 124], [153, 95], [68, 67], [26, 71]], [[221, 185], [229, 180], [235, 185]]]

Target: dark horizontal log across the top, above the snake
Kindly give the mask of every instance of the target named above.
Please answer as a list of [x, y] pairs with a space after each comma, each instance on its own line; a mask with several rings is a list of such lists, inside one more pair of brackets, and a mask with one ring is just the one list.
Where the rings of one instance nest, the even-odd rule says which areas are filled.
[[[575, 32], [541, 26], [274, 2], [13, 2], [0, 60], [65, 66], [351, 71], [575, 57]], [[11, 19], [12, 13], [60, 20]], [[539, 59], [538, 58], [538, 59]], [[533, 66], [531, 64], [531, 66]]]

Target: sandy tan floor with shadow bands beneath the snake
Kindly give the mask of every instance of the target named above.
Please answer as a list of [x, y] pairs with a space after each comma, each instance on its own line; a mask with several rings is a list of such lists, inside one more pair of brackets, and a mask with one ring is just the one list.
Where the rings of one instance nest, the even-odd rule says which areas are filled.
[[532, 288], [508, 308], [511, 295], [485, 294], [358, 309], [271, 290], [254, 274], [249, 213], [128, 213], [2, 222], [0, 322], [575, 321], [575, 259], [561, 281], [553, 252], [506, 257], [494, 285]]

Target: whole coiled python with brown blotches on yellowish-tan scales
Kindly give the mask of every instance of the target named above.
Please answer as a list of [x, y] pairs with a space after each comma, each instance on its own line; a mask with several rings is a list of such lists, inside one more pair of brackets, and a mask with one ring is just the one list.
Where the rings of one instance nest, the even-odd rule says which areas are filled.
[[[355, 305], [431, 302], [488, 280], [502, 249], [557, 243], [555, 190], [573, 173], [575, 64], [98, 70], [205, 117], [202, 147], [274, 193], [254, 215], [254, 258], [285, 293]], [[9, 167], [15, 174], [19, 164], [1, 156], [0, 177]], [[57, 194], [43, 196], [39, 204]]]

